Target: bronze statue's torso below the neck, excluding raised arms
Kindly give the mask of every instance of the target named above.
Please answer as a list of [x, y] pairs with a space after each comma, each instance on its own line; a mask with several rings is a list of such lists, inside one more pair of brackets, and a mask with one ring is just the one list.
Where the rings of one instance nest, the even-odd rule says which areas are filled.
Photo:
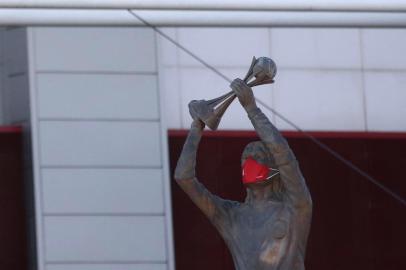
[[294, 211], [280, 202], [260, 207], [235, 203], [215, 225], [237, 270], [300, 270], [307, 235], [300, 236], [298, 222]]

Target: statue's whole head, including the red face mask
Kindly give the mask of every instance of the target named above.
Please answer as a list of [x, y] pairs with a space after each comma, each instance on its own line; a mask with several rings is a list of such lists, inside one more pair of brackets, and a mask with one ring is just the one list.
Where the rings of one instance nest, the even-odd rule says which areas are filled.
[[262, 141], [247, 144], [241, 156], [241, 166], [243, 183], [248, 189], [272, 185], [274, 192], [282, 192], [275, 159]]

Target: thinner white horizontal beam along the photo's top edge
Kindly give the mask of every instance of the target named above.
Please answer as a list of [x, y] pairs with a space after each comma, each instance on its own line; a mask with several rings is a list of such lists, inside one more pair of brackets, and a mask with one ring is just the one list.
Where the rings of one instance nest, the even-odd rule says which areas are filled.
[[404, 0], [1, 0], [0, 8], [406, 11]]

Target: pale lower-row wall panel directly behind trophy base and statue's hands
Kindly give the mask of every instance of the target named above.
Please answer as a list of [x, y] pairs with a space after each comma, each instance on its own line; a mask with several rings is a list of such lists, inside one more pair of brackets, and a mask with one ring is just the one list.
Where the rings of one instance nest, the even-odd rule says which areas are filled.
[[[247, 67], [248, 69], [248, 67]], [[244, 77], [247, 69], [220, 69], [229, 78]], [[256, 97], [267, 104], [272, 105], [273, 86], [258, 86], [254, 88]], [[219, 97], [229, 91], [229, 83], [205, 68], [184, 68], [181, 70], [181, 89], [182, 89], [182, 115], [183, 128], [189, 128], [192, 119], [189, 114], [188, 103], [191, 100], [212, 99]], [[267, 115], [271, 113], [264, 111]], [[230, 105], [225, 112], [219, 129], [253, 129], [245, 110], [241, 107], [238, 100]]]

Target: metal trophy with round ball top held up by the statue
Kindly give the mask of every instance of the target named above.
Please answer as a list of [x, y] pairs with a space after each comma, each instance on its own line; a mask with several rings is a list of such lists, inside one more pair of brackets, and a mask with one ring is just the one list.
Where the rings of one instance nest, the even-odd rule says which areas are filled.
[[[268, 57], [253, 57], [251, 66], [245, 75], [244, 82], [248, 86], [271, 84], [276, 75], [275, 62]], [[228, 106], [236, 98], [233, 91], [211, 100], [192, 100], [189, 103], [189, 112], [193, 119], [200, 119], [211, 130], [217, 130], [221, 117]]]

